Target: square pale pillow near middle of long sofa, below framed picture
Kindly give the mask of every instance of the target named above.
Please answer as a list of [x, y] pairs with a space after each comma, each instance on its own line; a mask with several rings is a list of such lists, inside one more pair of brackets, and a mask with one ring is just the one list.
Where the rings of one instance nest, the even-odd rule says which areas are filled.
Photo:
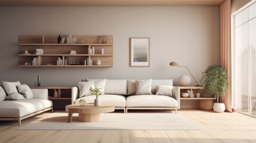
[[136, 94], [135, 95], [151, 95], [152, 79], [136, 80]]

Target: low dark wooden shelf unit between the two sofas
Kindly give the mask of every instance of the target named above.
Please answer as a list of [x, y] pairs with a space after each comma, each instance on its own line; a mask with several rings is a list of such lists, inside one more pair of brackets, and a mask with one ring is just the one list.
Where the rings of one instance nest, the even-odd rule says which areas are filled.
[[48, 89], [48, 99], [53, 101], [53, 108], [65, 108], [66, 105], [69, 105], [71, 103], [72, 86], [29, 86], [29, 87], [31, 89]]

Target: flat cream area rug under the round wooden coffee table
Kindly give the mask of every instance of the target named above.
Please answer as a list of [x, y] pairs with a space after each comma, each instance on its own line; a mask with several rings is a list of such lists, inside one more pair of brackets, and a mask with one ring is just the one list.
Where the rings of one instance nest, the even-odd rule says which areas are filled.
[[21, 126], [19, 130], [195, 130], [197, 126], [174, 113], [103, 113], [101, 122], [78, 122], [73, 114], [53, 113], [44, 119]]

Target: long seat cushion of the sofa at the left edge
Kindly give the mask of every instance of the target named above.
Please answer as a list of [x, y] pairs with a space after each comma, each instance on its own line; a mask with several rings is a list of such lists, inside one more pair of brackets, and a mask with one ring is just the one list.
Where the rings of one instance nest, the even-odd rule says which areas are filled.
[[52, 107], [50, 100], [24, 99], [0, 101], [0, 117], [23, 117], [27, 114]]

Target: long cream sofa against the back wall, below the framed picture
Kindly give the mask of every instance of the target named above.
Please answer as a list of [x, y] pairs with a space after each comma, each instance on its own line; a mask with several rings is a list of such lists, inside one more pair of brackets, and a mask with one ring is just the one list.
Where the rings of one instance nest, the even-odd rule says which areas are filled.
[[[157, 85], [172, 86], [172, 79], [152, 80], [153, 95], [135, 95], [135, 80], [107, 80], [104, 95], [100, 95], [101, 102], [104, 104], [115, 105], [115, 109], [122, 109], [125, 113], [128, 110], [175, 110], [180, 108], [180, 90], [178, 87], [172, 88], [172, 97], [167, 95], [155, 95]], [[72, 88], [72, 104], [79, 104], [79, 100], [84, 99], [87, 103], [93, 103], [95, 95], [79, 98], [78, 87]]]

